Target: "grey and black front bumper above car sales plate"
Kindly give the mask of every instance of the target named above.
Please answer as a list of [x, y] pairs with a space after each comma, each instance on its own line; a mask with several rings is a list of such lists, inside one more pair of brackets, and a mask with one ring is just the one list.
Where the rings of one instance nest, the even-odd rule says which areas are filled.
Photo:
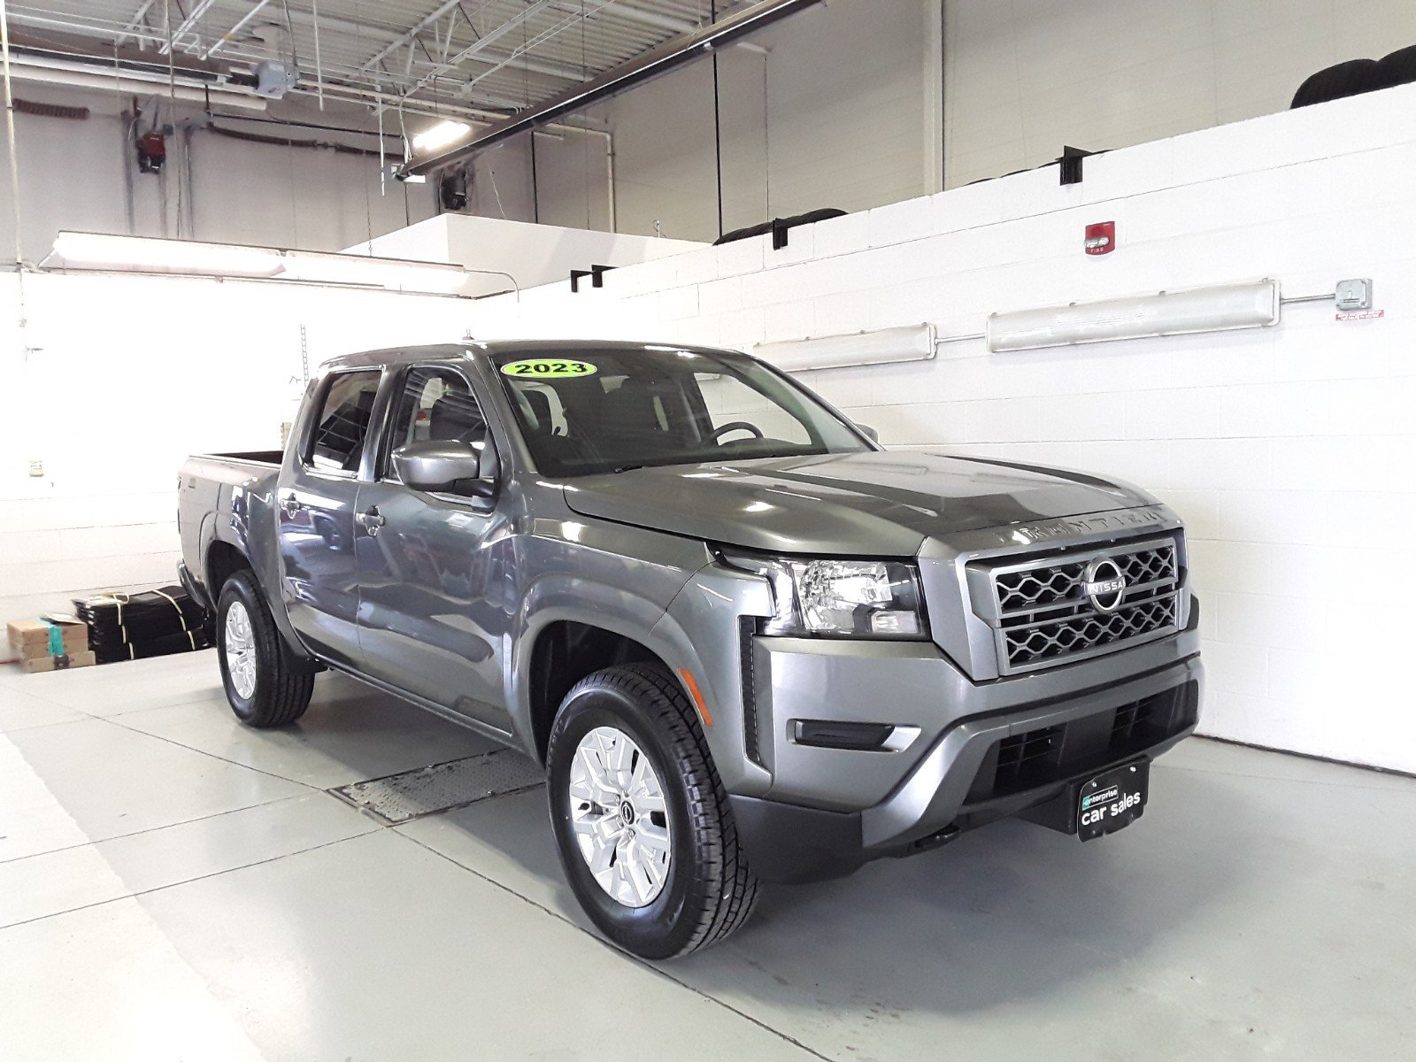
[[[756, 752], [773, 783], [731, 800], [762, 878], [840, 877], [922, 851], [1045, 803], [1079, 777], [1158, 756], [1198, 722], [1198, 610], [1164, 641], [984, 684], [929, 644], [871, 649], [756, 639]], [[918, 735], [901, 749], [818, 748], [794, 741], [800, 719]]]

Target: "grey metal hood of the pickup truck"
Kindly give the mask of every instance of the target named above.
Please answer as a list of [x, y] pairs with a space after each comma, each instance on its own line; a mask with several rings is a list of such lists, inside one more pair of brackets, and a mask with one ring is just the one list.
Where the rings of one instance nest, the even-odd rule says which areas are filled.
[[901, 450], [671, 464], [565, 486], [576, 513], [784, 554], [913, 556], [926, 538], [1155, 500], [1090, 476]]

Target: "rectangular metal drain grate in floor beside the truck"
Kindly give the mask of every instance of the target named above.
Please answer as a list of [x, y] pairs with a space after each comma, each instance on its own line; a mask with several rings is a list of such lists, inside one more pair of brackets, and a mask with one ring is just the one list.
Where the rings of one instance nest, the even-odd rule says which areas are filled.
[[535, 760], [520, 752], [497, 749], [329, 792], [388, 826], [396, 826], [487, 797], [534, 789], [544, 782], [545, 773]]

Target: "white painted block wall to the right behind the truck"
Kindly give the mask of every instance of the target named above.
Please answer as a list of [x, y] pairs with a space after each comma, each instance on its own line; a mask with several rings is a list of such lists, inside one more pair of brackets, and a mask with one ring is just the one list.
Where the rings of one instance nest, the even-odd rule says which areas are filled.
[[[1371, 575], [1405, 568], [1416, 525], [1413, 173], [1406, 86], [1089, 159], [1079, 185], [1048, 169], [838, 218], [793, 232], [789, 253], [760, 238], [617, 270], [593, 302], [564, 286], [524, 312], [489, 300], [476, 327], [732, 347], [923, 320], [963, 336], [995, 310], [1257, 276], [1313, 295], [1371, 276], [1382, 320], [1301, 303], [1269, 330], [1004, 355], [963, 340], [932, 362], [803, 375], [889, 445], [1092, 469], [1160, 494], [1189, 524], [1204, 731], [1416, 770], [1398, 670], [1408, 606]], [[1106, 219], [1119, 249], [1085, 256], [1083, 225]], [[661, 293], [632, 306], [616, 290], [632, 276]], [[698, 316], [684, 316], [694, 287]]]

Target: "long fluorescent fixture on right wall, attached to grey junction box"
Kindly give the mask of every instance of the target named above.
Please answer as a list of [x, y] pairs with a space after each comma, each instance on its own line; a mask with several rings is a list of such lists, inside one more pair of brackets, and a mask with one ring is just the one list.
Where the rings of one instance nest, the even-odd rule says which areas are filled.
[[1099, 303], [1070, 303], [988, 316], [993, 353], [1106, 343], [1197, 331], [1260, 329], [1279, 323], [1279, 282], [1191, 287]]

